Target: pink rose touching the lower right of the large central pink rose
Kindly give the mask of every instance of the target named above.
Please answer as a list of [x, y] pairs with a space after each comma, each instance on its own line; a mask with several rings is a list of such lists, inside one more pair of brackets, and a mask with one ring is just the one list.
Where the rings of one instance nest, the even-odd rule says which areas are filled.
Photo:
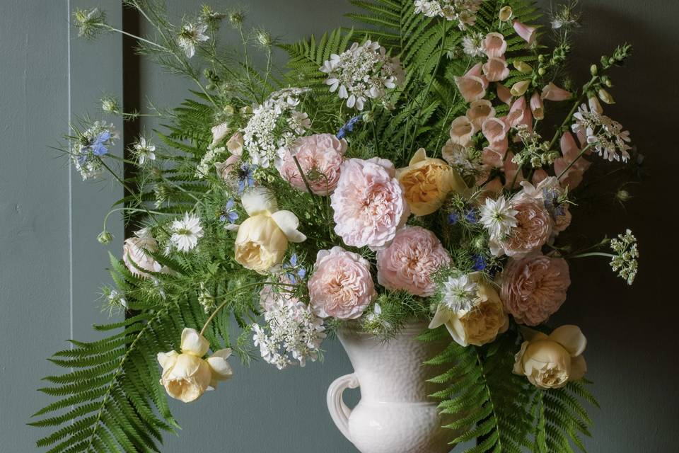
[[400, 229], [390, 246], [377, 253], [377, 281], [387, 289], [403, 289], [414, 296], [436, 292], [431, 274], [451, 257], [434, 233], [420, 226]]

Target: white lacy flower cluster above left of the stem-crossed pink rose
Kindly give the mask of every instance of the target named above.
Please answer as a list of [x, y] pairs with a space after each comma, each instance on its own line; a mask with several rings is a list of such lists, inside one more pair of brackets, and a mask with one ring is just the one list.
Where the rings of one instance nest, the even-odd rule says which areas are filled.
[[286, 148], [311, 127], [306, 113], [296, 110], [308, 88], [284, 88], [257, 105], [243, 130], [250, 162], [268, 168], [283, 159]]

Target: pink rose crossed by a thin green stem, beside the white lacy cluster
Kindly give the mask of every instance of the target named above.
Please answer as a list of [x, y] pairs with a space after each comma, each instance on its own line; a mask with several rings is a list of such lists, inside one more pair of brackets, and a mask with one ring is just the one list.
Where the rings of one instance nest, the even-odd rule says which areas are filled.
[[347, 141], [332, 134], [316, 134], [297, 139], [278, 165], [281, 176], [296, 189], [306, 192], [293, 156], [297, 157], [304, 176], [316, 195], [330, 195], [340, 180], [340, 166], [347, 151]]

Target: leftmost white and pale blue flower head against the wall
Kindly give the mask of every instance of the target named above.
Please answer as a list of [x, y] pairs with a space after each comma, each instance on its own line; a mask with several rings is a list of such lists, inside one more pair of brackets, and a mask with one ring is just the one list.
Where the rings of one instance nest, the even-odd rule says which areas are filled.
[[118, 133], [112, 124], [104, 121], [95, 121], [85, 132], [74, 138], [71, 147], [71, 160], [76, 170], [88, 180], [100, 176], [103, 165], [101, 156], [108, 154], [113, 146]]

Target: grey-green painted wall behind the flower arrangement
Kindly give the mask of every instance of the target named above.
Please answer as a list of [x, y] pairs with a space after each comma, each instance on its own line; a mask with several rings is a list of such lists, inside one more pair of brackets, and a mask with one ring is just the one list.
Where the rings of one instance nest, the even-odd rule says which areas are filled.
[[[103, 92], [120, 94], [122, 47], [117, 36], [69, 42], [69, 3], [102, 6], [110, 21], [120, 23], [120, 2], [113, 0], [3, 0], [0, 6], [1, 453], [35, 451], [39, 432], [25, 421], [48, 401], [35, 391], [40, 377], [54, 372], [45, 357], [66, 348], [64, 339], [71, 334], [92, 338], [91, 323], [105, 321], [96, 299], [108, 282], [108, 256], [96, 235], [121, 191], [108, 183], [82, 183], [47, 147], [67, 132], [69, 112], [73, 119], [95, 117]], [[201, 3], [169, 2], [176, 18]], [[538, 3], [548, 10], [551, 2]], [[676, 214], [670, 181], [679, 171], [673, 135], [679, 3], [586, 0], [581, 6], [586, 21], [574, 38], [574, 71], [586, 74], [589, 62], [617, 43], [635, 47], [629, 67], [615, 72], [618, 105], [608, 111], [632, 131], [651, 177], [641, 187], [627, 187], [635, 197], [626, 212], [615, 209], [615, 188], [608, 187], [598, 190], [611, 210], [574, 211], [574, 228], [592, 239], [624, 226], [635, 231], [642, 247], [635, 285], [622, 285], [604, 261], [581, 261], [571, 268], [569, 300], [553, 322], [579, 324], [588, 336], [588, 377], [596, 382], [602, 405], [592, 413], [589, 451], [675, 452], [679, 309], [672, 282], [679, 250], [672, 237]], [[341, 17], [349, 11], [346, 0], [253, 0], [247, 8], [251, 24], [286, 41], [348, 24]], [[142, 96], [161, 108], [177, 104], [189, 87], [146, 62], [139, 83]], [[142, 126], [150, 131], [153, 123]], [[651, 222], [663, 222], [661, 234]], [[112, 231], [122, 241], [122, 226]], [[110, 250], [120, 253], [120, 242]], [[236, 365], [236, 377], [219, 391], [195, 404], [173, 403], [184, 429], [180, 437], [168, 437], [163, 453], [355, 452], [325, 409], [327, 385], [351, 368], [335, 341], [325, 347], [324, 364], [285, 372], [262, 363], [247, 369]]]

